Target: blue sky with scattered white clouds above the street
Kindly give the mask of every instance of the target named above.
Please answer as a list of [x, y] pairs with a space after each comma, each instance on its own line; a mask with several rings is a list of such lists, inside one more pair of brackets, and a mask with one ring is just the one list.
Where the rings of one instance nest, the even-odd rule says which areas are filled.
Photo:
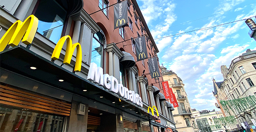
[[137, 0], [137, 2], [159, 48], [160, 64], [163, 63], [168, 70], [174, 71], [182, 78], [191, 107], [197, 110], [217, 110], [215, 103], [211, 103], [216, 102], [212, 94], [212, 77], [217, 82], [223, 81], [221, 65], [228, 67], [232, 59], [247, 49], [256, 50], [256, 42], [249, 37], [249, 27], [244, 21], [210, 30], [156, 38], [255, 16], [256, 1]]

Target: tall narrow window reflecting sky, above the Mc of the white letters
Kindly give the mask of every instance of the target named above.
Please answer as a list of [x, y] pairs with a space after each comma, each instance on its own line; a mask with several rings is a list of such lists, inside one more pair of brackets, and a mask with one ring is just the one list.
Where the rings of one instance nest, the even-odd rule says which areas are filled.
[[94, 62], [97, 66], [103, 67], [103, 43], [97, 34], [94, 34], [92, 39], [91, 62]]

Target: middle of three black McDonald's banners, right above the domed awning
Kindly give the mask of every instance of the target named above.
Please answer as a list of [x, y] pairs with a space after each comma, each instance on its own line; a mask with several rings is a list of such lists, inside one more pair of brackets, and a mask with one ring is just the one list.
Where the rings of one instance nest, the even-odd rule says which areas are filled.
[[145, 36], [141, 36], [140, 38], [135, 38], [135, 50], [137, 54], [137, 61], [148, 58]]

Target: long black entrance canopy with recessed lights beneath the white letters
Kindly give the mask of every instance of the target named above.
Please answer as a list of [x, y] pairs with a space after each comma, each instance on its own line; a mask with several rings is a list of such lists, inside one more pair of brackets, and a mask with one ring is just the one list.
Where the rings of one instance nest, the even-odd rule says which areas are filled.
[[[149, 115], [149, 113], [143, 111], [142, 108], [135, 104], [118, 97], [117, 94], [111, 93], [103, 87], [81, 78], [49, 60], [21, 45], [0, 52], [1, 68], [121, 111], [126, 111], [145, 120], [156, 120], [155, 117]], [[36, 67], [36, 70], [32, 70], [31, 66]], [[64, 81], [60, 82], [60, 79]], [[100, 98], [102, 96], [104, 98]]]

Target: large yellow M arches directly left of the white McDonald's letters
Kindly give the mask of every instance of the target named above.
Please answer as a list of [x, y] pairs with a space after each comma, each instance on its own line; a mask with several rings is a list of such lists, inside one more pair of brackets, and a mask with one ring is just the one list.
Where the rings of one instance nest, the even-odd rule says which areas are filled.
[[62, 47], [64, 45], [64, 42], [66, 41], [66, 53], [64, 57], [64, 64], [70, 64], [73, 52], [76, 49], [76, 65], [74, 71], [81, 71], [81, 65], [82, 65], [82, 47], [77, 42], [72, 45], [72, 40], [69, 35], [63, 36], [59, 39], [57, 45], [55, 46], [53, 52], [52, 52], [52, 59], [57, 60], [59, 59], [60, 52], [62, 51]]

